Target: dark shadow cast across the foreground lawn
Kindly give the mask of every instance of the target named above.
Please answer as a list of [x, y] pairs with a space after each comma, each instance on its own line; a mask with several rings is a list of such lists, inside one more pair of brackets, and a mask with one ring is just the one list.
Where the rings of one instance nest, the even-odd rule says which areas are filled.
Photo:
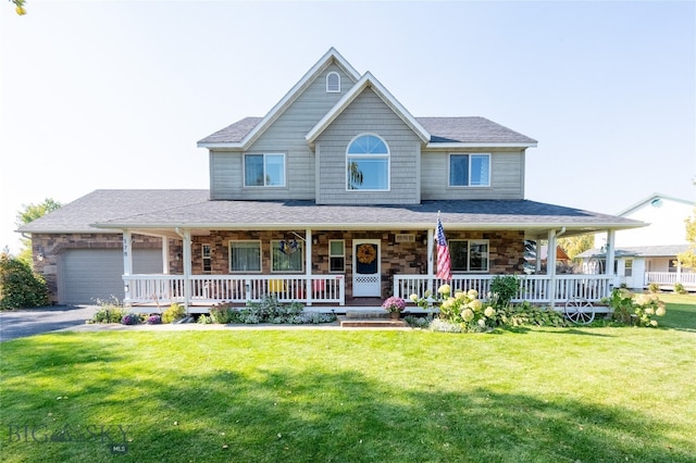
[[[3, 436], [4, 461], [111, 461], [103, 439], [24, 441], [16, 433], [30, 425], [44, 436], [70, 425], [76, 436], [90, 424], [127, 426], [120, 459], [134, 462], [694, 461], [694, 443], [675, 441], [669, 423], [562, 392], [502, 391], [455, 376], [457, 388], [417, 387], [395, 374], [406, 365], [364, 358], [384, 372], [368, 375], [316, 352], [311, 367], [300, 366], [286, 360], [287, 345], [276, 358], [257, 359], [262, 338], [232, 343], [234, 354], [200, 342], [196, 355], [174, 358], [179, 338], [149, 337], [157, 340], [146, 352], [138, 338], [13, 345], [38, 354], [3, 371], [0, 424], [15, 429]], [[144, 354], [151, 364], [139, 361]], [[57, 400], [71, 384], [70, 397]]]

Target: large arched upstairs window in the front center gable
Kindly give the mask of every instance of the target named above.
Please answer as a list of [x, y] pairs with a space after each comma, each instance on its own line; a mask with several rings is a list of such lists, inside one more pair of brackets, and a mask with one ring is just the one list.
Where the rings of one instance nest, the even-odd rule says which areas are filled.
[[387, 191], [389, 189], [389, 147], [376, 135], [359, 135], [346, 153], [348, 190]]

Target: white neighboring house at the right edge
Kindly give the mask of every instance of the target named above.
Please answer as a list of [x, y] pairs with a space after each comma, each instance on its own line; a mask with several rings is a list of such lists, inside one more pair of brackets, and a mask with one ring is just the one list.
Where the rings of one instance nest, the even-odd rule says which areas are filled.
[[[694, 214], [694, 201], [652, 193], [619, 212], [619, 216], [648, 224], [616, 233], [613, 273], [617, 284], [633, 289], [651, 283], [673, 289], [675, 283], [696, 290], [696, 273], [682, 267], [678, 254], [688, 249], [685, 220]], [[579, 255], [586, 273], [605, 273], [606, 236], [595, 237], [599, 248]]]

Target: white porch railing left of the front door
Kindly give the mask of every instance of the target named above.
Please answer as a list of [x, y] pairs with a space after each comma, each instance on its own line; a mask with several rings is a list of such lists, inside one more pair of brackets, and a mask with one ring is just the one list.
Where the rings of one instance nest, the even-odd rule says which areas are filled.
[[[124, 275], [127, 304], [186, 302], [183, 275]], [[343, 275], [191, 275], [189, 303], [245, 303], [274, 295], [281, 302], [299, 301], [308, 305], [346, 302]]]

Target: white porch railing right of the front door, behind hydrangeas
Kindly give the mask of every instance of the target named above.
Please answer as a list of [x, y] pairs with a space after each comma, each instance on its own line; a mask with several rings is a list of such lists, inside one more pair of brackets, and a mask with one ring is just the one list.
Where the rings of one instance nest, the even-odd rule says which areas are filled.
[[[494, 278], [495, 275], [455, 275], [451, 281], [444, 281], [427, 275], [395, 275], [394, 295], [408, 299], [412, 293], [422, 296], [427, 289], [435, 292], [440, 285], [448, 283], [452, 293], [475, 289], [481, 297], [486, 297]], [[548, 275], [519, 276], [518, 293], [512, 301], [559, 304], [569, 299], [584, 298], [597, 303], [611, 293], [613, 278], [607, 275], [556, 275], [551, 287], [552, 280]]]

